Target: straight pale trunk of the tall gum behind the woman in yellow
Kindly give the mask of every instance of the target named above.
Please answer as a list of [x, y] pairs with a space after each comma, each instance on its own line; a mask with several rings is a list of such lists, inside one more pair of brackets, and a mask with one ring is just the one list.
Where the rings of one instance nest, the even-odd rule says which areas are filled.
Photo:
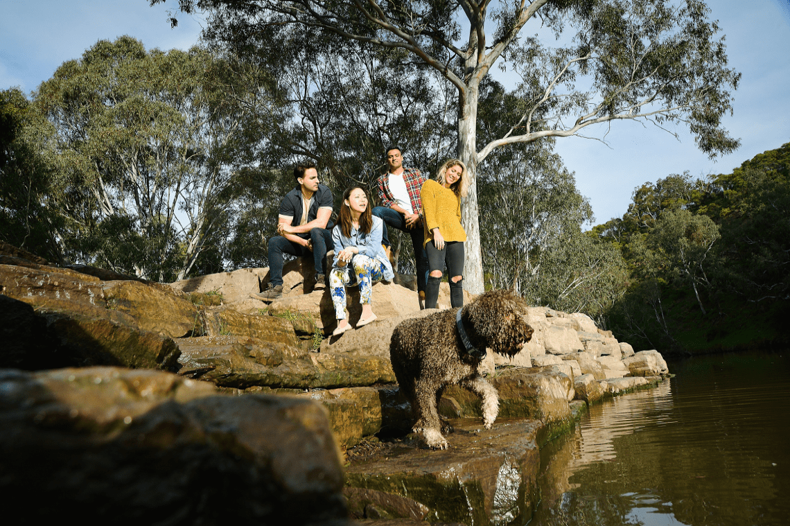
[[[464, 289], [472, 294], [481, 294], [483, 284], [483, 256], [480, 251], [480, 222], [477, 205], [477, 85], [467, 88], [463, 100], [459, 100], [458, 118], [458, 158], [468, 168], [469, 193], [461, 201], [461, 224], [466, 231], [464, 246], [466, 261], [464, 265]], [[461, 95], [463, 96], [463, 95]]]

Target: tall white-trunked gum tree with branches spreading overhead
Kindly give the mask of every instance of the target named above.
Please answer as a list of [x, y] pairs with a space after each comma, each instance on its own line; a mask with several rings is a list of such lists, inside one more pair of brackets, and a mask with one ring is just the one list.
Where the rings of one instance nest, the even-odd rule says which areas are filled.
[[[483, 291], [476, 176], [495, 148], [624, 119], [685, 123], [710, 156], [739, 145], [720, 122], [739, 73], [726, 67], [724, 39], [700, 0], [179, 0], [179, 9], [208, 13], [209, 29], [320, 28], [403, 49], [441, 72], [457, 89], [458, 156], [472, 178], [462, 221], [465, 283], [475, 293]], [[497, 63], [520, 78], [521, 111], [501, 137], [479, 144], [480, 82]]]

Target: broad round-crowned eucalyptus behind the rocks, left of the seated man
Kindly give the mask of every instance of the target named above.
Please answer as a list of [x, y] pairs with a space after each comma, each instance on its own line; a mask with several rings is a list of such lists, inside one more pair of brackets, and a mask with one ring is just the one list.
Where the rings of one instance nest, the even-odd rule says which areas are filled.
[[[83, 257], [148, 279], [182, 279], [238, 207], [239, 167], [276, 118], [266, 74], [208, 50], [100, 40], [43, 82]], [[81, 241], [80, 241], [81, 240]]]

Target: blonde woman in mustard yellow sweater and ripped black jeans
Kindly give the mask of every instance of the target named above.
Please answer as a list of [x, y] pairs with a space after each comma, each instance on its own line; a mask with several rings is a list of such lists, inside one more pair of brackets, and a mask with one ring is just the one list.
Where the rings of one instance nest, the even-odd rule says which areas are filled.
[[464, 242], [466, 232], [461, 226], [461, 197], [466, 197], [469, 182], [466, 165], [451, 159], [442, 164], [436, 181], [423, 184], [425, 251], [428, 254], [428, 283], [425, 287], [425, 308], [435, 309], [439, 284], [445, 263], [450, 275], [450, 304], [464, 305]]

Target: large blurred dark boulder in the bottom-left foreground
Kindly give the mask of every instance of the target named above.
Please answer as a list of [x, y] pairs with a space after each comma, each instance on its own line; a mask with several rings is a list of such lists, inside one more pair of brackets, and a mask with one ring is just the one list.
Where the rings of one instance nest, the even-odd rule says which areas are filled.
[[346, 524], [325, 410], [216, 396], [115, 368], [0, 372], [9, 517], [128, 524]]

